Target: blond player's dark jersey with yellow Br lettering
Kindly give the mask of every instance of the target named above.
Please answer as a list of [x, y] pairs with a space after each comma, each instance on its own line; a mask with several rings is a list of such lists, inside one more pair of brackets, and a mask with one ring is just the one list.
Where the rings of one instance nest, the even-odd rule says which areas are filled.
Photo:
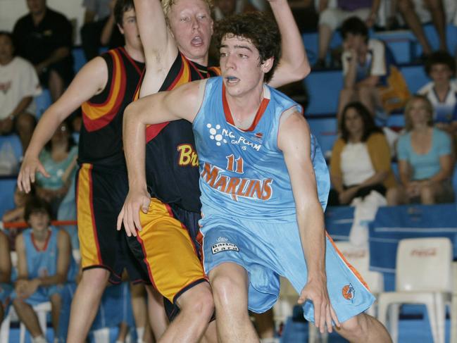
[[[220, 75], [178, 54], [160, 91]], [[192, 123], [176, 120], [146, 127], [146, 182], [152, 197], [186, 211], [200, 212], [199, 158]]]

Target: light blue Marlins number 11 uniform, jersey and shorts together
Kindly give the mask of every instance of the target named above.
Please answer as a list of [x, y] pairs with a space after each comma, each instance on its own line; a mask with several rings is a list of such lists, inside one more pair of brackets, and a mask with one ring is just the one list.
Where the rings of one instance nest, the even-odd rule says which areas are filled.
[[[205, 271], [211, 273], [221, 263], [242, 266], [249, 274], [248, 308], [257, 313], [275, 303], [279, 275], [287, 277], [297, 292], [308, 277], [289, 173], [277, 147], [282, 113], [301, 108], [275, 89], [265, 85], [263, 90], [253, 125], [239, 130], [224, 99], [223, 79], [208, 79], [193, 124], [201, 176]], [[325, 209], [330, 177], [313, 135], [311, 160]], [[340, 321], [373, 303], [363, 280], [346, 265], [328, 237], [325, 268], [330, 301]], [[310, 301], [303, 309], [306, 318], [314, 320]]]

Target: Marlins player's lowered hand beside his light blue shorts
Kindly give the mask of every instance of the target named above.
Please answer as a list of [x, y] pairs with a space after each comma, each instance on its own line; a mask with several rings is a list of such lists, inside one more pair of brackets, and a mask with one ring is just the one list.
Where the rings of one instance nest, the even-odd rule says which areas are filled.
[[325, 325], [327, 325], [328, 332], [333, 331], [332, 320], [334, 325], [339, 328], [340, 325], [337, 314], [335, 313], [332, 304], [330, 304], [325, 277], [308, 280], [305, 287], [301, 290], [298, 303], [304, 304], [307, 300], [313, 301], [314, 324], [316, 328], [319, 328], [321, 333], [324, 333]]

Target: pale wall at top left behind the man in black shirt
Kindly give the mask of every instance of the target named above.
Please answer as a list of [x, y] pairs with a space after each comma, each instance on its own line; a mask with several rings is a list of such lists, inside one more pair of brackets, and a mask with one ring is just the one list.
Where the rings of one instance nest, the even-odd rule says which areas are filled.
[[[47, 0], [47, 6], [77, 22], [75, 44], [80, 44], [80, 27], [84, 16], [82, 0]], [[18, 18], [27, 14], [25, 0], [0, 0], [0, 30], [12, 31]]]

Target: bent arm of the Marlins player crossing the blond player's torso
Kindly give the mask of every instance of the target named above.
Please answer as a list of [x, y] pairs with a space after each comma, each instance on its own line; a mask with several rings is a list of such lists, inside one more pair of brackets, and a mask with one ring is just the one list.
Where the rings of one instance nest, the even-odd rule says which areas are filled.
[[206, 80], [190, 82], [170, 92], [160, 92], [132, 102], [124, 112], [123, 142], [129, 177], [129, 193], [118, 216], [127, 236], [142, 230], [139, 211], [147, 212], [150, 197], [145, 175], [146, 125], [186, 119], [191, 123], [203, 100]]

